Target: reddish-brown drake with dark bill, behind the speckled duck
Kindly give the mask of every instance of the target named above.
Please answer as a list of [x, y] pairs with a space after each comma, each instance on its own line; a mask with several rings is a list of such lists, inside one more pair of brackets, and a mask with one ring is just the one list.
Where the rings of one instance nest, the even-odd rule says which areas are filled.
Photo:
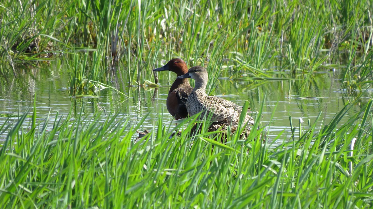
[[[176, 58], [167, 62], [166, 65], [160, 68], [156, 68], [153, 71], [172, 71], [176, 73], [177, 76], [184, 75], [188, 73], [188, 67], [184, 60]], [[176, 119], [186, 118], [188, 116], [188, 111], [186, 110], [186, 101], [189, 94], [192, 92], [192, 87], [189, 84], [187, 78], [176, 79], [167, 96], [166, 105], [168, 112]]]

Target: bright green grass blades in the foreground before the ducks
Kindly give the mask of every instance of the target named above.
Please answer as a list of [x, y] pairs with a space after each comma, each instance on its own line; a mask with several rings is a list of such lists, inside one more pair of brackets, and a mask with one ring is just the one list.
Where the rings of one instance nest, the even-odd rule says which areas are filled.
[[2, 142], [2, 207], [370, 208], [372, 100], [341, 124], [350, 107], [322, 127], [322, 114], [309, 125], [292, 124], [294, 135], [279, 135], [275, 146], [260, 140], [261, 111], [247, 140], [233, 134], [221, 144], [219, 132], [206, 127], [190, 136], [195, 118], [172, 128], [160, 117], [135, 143], [146, 116], [131, 124], [119, 115], [100, 121], [70, 112], [38, 124], [34, 106], [31, 128], [22, 128], [26, 111]]

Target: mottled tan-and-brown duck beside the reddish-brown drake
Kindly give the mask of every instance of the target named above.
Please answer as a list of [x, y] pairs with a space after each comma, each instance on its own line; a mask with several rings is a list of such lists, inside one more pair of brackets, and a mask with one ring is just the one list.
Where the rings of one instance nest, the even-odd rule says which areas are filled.
[[[211, 119], [213, 122], [228, 122], [235, 127], [238, 125], [242, 107], [226, 99], [206, 94], [207, 80], [209, 79], [206, 68], [201, 66], [192, 67], [188, 70], [188, 73], [177, 78], [183, 80], [192, 78], [195, 80], [194, 89], [186, 101], [186, 109], [190, 116], [203, 111], [204, 113], [202, 113], [201, 117], [211, 113], [213, 114]], [[254, 119], [246, 115], [244, 122], [253, 125]]]

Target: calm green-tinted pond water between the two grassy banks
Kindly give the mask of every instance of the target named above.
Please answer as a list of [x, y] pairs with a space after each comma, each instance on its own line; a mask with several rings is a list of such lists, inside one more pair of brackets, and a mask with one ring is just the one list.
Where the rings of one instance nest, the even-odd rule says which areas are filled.
[[[128, 82], [119, 79], [125, 76], [118, 76], [111, 85], [129, 97], [111, 89], [104, 89], [96, 94], [98, 97], [87, 98], [69, 95], [67, 89], [69, 75], [62, 73], [64, 71], [52, 63], [40, 69], [19, 73], [15, 77], [1, 77], [0, 114], [10, 114], [13, 111], [18, 113], [18, 109], [21, 113], [25, 112], [32, 105], [36, 94], [37, 116], [40, 119], [46, 118], [48, 113], [51, 118], [56, 116], [57, 112], [59, 115], [67, 115], [72, 108], [75, 115], [81, 111], [87, 116], [103, 111], [119, 112], [119, 117], [129, 118], [132, 124], [137, 123], [149, 113], [140, 131], [152, 129], [157, 121], [154, 119], [158, 119], [162, 112], [164, 112], [164, 123], [172, 120], [166, 109], [166, 98], [170, 84], [176, 77], [173, 73], [159, 73], [161, 87], [158, 89], [131, 87]], [[297, 78], [297, 81], [233, 81], [221, 78], [216, 83], [214, 95], [239, 105], [243, 105], [244, 101], [248, 100], [254, 111], [259, 110], [264, 103], [261, 125], [267, 126], [267, 140], [274, 139], [283, 130], [285, 132], [279, 140], [288, 140], [291, 135], [289, 115], [292, 116], [295, 126], [299, 125], [299, 118], [305, 121], [302, 126], [307, 126], [307, 120], [309, 119], [312, 124], [322, 111], [323, 123], [329, 123], [348, 100], [354, 100], [353, 97], [340, 90], [341, 81], [338, 74], [337, 70], [315, 75], [311, 83], [306, 84], [307, 91], [300, 91], [299, 86], [303, 84], [301, 78]], [[363, 97], [360, 103], [353, 106], [349, 114], [359, 111], [360, 106], [369, 97], [370, 95]], [[102, 114], [102, 117], [104, 115]], [[0, 125], [5, 120], [6, 118], [0, 117]], [[10, 122], [15, 123], [16, 120], [12, 118]], [[347, 117], [344, 120], [347, 120]], [[5, 138], [6, 132], [0, 135], [0, 140]]]

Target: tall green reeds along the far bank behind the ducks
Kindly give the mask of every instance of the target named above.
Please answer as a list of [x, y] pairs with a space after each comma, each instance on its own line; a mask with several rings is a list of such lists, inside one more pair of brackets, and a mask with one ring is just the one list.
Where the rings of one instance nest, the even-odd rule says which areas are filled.
[[[337, 65], [351, 91], [369, 87], [372, 80], [369, 0], [37, 0], [22, 5], [7, 1], [0, 8], [0, 59], [12, 66], [0, 71], [17, 73], [17, 63], [47, 62], [72, 53], [77, 57], [66, 57], [76, 71], [76, 80], [70, 80], [73, 89], [86, 78], [109, 83], [121, 68], [125, 82], [141, 85], [153, 80], [156, 60], [174, 57], [188, 66], [205, 65], [211, 92], [223, 71], [230, 78], [272, 77], [263, 69], [274, 66], [289, 70], [292, 78], [307, 74], [311, 80], [313, 72], [323, 70], [320, 66]], [[339, 56], [342, 52], [348, 57]], [[88, 59], [81, 59], [82, 53]]]

